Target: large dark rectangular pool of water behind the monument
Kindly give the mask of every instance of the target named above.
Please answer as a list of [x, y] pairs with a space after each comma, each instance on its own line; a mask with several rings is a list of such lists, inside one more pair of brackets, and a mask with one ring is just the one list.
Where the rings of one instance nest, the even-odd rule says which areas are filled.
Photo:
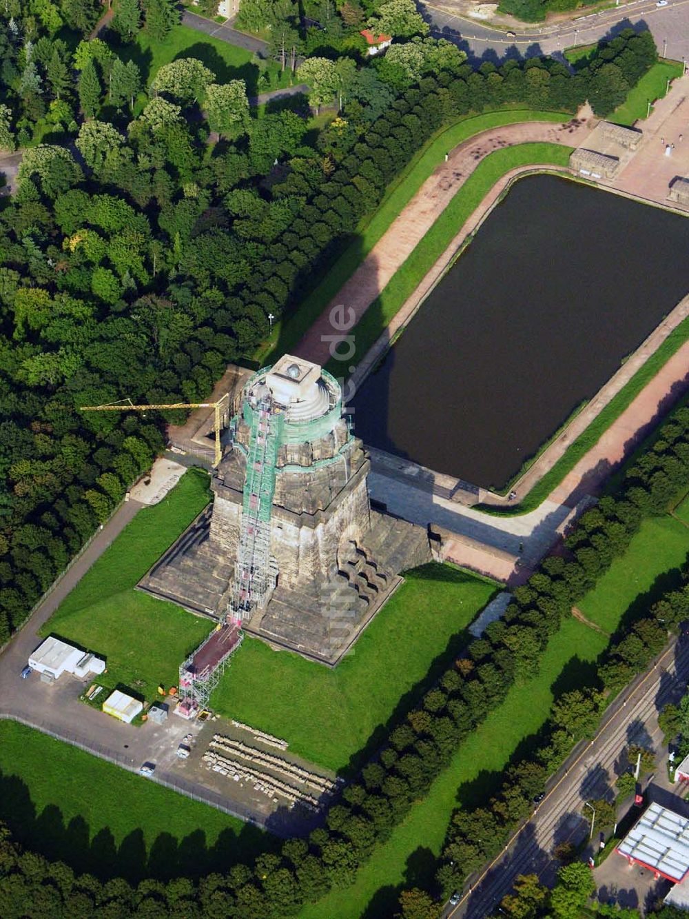
[[525, 178], [356, 393], [356, 436], [500, 487], [687, 291], [689, 220]]

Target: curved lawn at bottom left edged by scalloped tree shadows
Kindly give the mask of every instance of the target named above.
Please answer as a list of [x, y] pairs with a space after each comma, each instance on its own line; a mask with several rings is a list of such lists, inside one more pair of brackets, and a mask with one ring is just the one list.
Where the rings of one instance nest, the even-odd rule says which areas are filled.
[[0, 723], [0, 820], [21, 845], [101, 879], [226, 872], [279, 840], [16, 721]]

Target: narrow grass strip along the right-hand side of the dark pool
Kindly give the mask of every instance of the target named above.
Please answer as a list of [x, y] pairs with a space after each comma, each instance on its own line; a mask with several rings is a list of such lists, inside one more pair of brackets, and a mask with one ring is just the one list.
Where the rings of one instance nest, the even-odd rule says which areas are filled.
[[493, 516], [518, 516], [528, 514], [545, 501], [564, 477], [576, 466], [582, 457], [603, 437], [605, 431], [636, 399], [650, 380], [661, 370], [675, 352], [689, 340], [689, 318], [684, 319], [652, 354], [643, 367], [639, 368], [627, 384], [616, 393], [592, 423], [577, 437], [566, 453], [546, 472], [517, 507], [502, 508], [481, 505], [480, 510]]

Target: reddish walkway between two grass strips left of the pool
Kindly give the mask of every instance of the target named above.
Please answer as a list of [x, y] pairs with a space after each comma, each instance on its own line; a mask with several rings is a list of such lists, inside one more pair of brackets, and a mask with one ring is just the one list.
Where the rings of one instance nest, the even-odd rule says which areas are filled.
[[[519, 143], [551, 142], [576, 147], [585, 140], [590, 130], [588, 119], [585, 118], [565, 124], [524, 121], [484, 130], [459, 144], [449, 154], [447, 162], [435, 169], [433, 175], [426, 179], [412, 200], [392, 221], [386, 233], [299, 342], [295, 355], [317, 364], [327, 363], [330, 344], [326, 336], [333, 334], [330, 319], [333, 306], [343, 303], [345, 308], [354, 311], [356, 321], [361, 319], [486, 156], [495, 150]], [[474, 216], [480, 219], [480, 211]]]

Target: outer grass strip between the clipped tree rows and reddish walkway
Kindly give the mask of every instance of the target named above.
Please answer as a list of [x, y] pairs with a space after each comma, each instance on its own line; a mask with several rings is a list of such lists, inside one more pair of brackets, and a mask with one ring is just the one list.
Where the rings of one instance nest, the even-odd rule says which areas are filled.
[[[412, 200], [425, 180], [445, 160], [445, 154], [460, 143], [468, 141], [475, 134], [491, 128], [499, 128], [517, 121], [562, 122], [571, 118], [566, 112], [546, 112], [524, 108], [504, 108], [457, 119], [417, 151], [399, 176], [390, 183], [378, 208], [360, 221], [354, 238], [344, 253], [329, 268], [327, 274], [311, 294], [301, 302], [299, 310], [274, 325], [273, 335], [259, 347], [255, 359], [262, 365], [270, 363], [285, 351], [295, 346], [318, 319], [323, 310], [364, 261], [378, 240], [386, 233], [392, 221]], [[382, 330], [381, 330], [382, 331]]]

